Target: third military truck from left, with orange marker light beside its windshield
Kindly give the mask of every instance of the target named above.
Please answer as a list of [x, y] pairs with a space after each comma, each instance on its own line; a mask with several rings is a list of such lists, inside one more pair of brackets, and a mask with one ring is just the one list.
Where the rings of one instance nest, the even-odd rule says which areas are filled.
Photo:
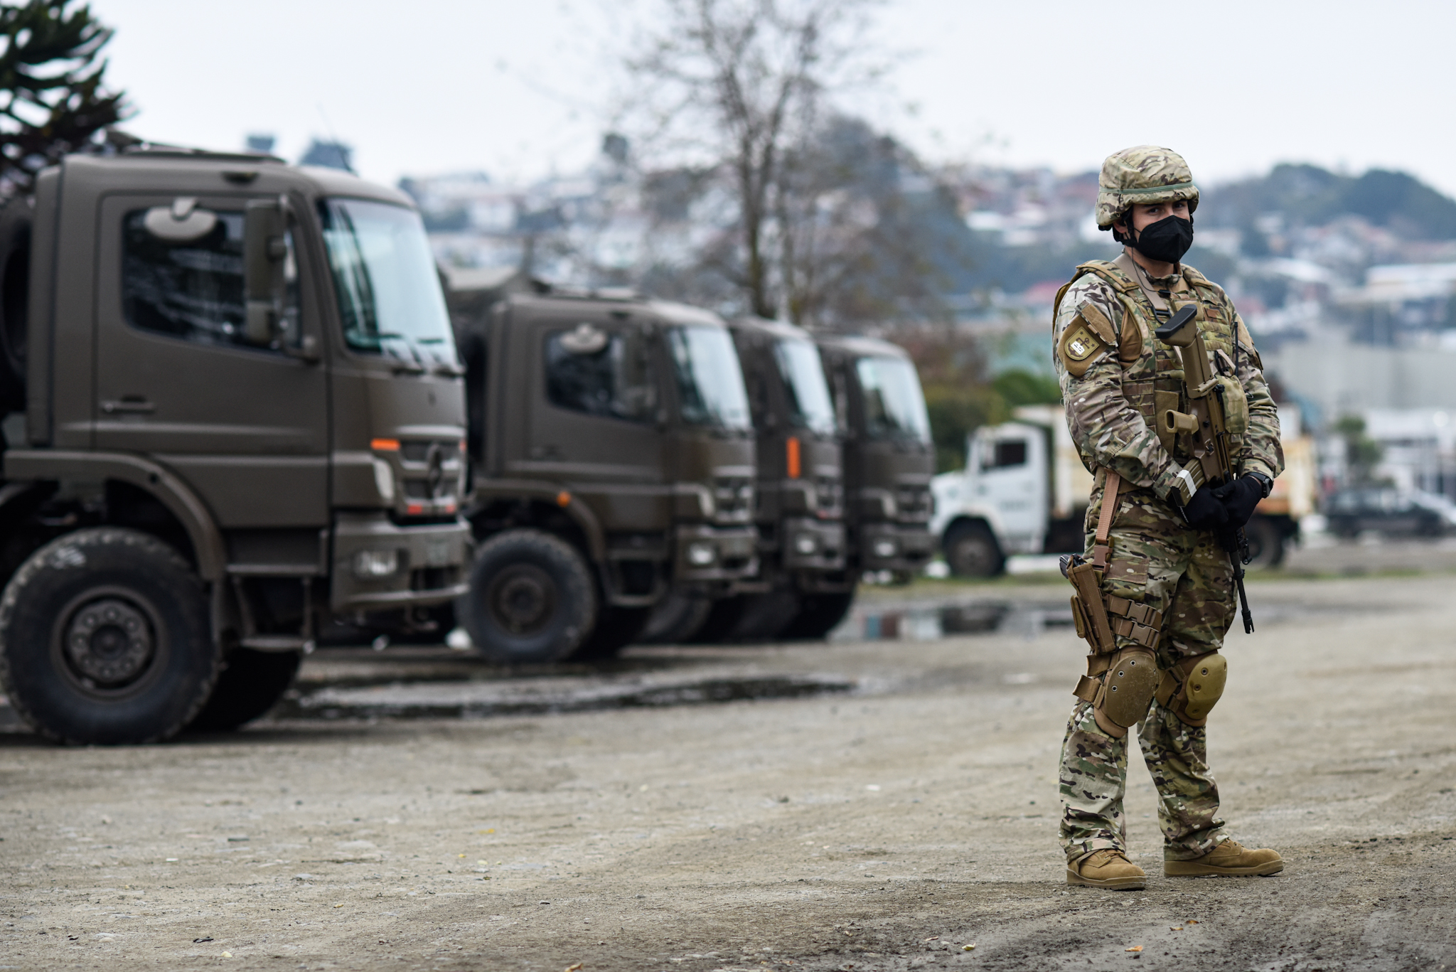
[[[757, 439], [760, 570], [716, 600], [673, 590], [645, 637], [737, 641], [823, 637], [821, 597], [853, 599], [844, 565], [840, 434], [814, 340], [780, 321], [731, 322]], [[808, 603], [811, 611], [801, 619]]]

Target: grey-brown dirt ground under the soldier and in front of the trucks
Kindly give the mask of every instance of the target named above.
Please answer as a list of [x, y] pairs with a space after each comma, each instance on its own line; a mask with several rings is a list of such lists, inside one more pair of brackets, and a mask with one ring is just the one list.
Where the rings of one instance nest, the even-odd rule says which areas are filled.
[[[3, 734], [0, 966], [1456, 969], [1453, 589], [1254, 584], [1259, 631], [1230, 635], [1210, 762], [1232, 832], [1284, 854], [1275, 877], [1162, 877], [1137, 761], [1147, 889], [1064, 885], [1056, 761], [1082, 665], [1064, 627], [635, 648], [610, 679], [827, 688], [294, 711], [130, 749]], [[348, 666], [319, 653], [309, 672]]]

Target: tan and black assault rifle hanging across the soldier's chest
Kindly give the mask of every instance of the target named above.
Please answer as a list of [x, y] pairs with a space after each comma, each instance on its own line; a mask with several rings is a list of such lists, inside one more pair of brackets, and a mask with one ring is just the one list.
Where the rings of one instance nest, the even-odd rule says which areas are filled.
[[[1195, 490], [1206, 484], [1217, 487], [1233, 482], [1238, 475], [1229, 456], [1226, 396], [1238, 395], [1239, 401], [1243, 399], [1236, 363], [1232, 376], [1213, 372], [1208, 348], [1203, 342], [1198, 325], [1194, 324], [1197, 313], [1197, 305], [1184, 305], [1168, 324], [1153, 331], [1159, 341], [1178, 348], [1182, 356], [1188, 412], [1168, 408], [1158, 415], [1158, 423], [1166, 433], [1188, 436], [1194, 462], [1187, 466], [1187, 472]], [[1233, 347], [1238, 354], [1238, 335]], [[1219, 545], [1229, 554], [1229, 564], [1233, 565], [1233, 583], [1239, 590], [1239, 608], [1243, 612], [1243, 632], [1254, 634], [1254, 615], [1249, 614], [1249, 599], [1243, 593], [1243, 565], [1249, 563], [1249, 541], [1243, 535], [1243, 528], [1219, 530]]]

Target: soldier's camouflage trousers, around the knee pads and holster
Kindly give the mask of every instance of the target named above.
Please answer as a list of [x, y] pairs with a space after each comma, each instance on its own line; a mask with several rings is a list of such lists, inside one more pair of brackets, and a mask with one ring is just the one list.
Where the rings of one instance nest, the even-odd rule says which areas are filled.
[[[1096, 497], [1088, 523], [1095, 525], [1099, 513]], [[1120, 497], [1109, 545], [1102, 590], [1163, 612], [1159, 669], [1223, 647], [1236, 595], [1229, 555], [1211, 532], [1190, 530], [1152, 491], [1130, 490]], [[1118, 638], [1118, 647], [1131, 644]], [[1219, 784], [1207, 764], [1207, 730], [1185, 724], [1155, 701], [1137, 736], [1158, 787], [1163, 857], [1203, 857], [1223, 839]], [[1114, 739], [1098, 729], [1091, 702], [1079, 699], [1072, 710], [1059, 780], [1067, 860], [1102, 848], [1125, 851], [1127, 737]]]

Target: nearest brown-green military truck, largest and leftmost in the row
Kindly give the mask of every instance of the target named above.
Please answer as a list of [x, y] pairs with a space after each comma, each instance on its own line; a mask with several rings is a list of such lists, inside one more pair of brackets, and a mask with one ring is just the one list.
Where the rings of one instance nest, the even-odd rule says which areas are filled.
[[0, 213], [0, 682], [41, 733], [237, 726], [320, 628], [466, 590], [462, 369], [405, 195], [68, 156]]

